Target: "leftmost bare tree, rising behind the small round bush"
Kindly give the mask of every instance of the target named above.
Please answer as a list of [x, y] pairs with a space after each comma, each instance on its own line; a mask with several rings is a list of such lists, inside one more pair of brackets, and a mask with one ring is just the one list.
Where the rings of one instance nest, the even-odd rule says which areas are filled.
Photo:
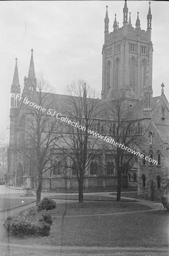
[[36, 204], [41, 199], [43, 174], [52, 168], [52, 155], [58, 149], [60, 122], [52, 115], [56, 110], [54, 94], [49, 93], [49, 85], [40, 77], [37, 89], [24, 88], [19, 131], [19, 151], [24, 154], [25, 166], [31, 164], [33, 175], [37, 175]]

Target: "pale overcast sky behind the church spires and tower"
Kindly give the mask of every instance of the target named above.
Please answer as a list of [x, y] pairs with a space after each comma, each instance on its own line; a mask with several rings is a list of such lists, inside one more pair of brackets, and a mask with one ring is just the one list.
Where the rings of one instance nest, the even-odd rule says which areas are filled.
[[[84, 79], [100, 95], [104, 18], [108, 5], [109, 32], [113, 21], [122, 27], [124, 1], [1, 1], [0, 2], [0, 134], [9, 134], [10, 88], [15, 57], [21, 88], [28, 75], [31, 48], [36, 75], [43, 73], [55, 93], [65, 94], [73, 80]], [[135, 27], [147, 28], [149, 1], [127, 1]], [[153, 97], [169, 99], [169, 2], [151, 1], [153, 42]]]

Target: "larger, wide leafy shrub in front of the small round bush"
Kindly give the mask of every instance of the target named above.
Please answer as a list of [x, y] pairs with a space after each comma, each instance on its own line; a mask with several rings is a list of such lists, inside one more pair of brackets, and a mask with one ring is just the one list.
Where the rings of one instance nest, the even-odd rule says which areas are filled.
[[5, 229], [15, 236], [49, 236], [52, 216], [47, 210], [37, 212], [35, 208], [16, 213], [5, 221]]

